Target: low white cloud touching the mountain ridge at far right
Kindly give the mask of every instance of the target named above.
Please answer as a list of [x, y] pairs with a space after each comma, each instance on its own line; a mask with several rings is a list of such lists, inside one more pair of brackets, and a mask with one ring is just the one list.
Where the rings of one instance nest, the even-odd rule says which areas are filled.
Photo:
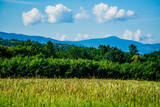
[[130, 30], [125, 30], [122, 36], [123, 39], [134, 40], [142, 43], [153, 43], [154, 39], [151, 34], [145, 34], [140, 29], [135, 33]]

